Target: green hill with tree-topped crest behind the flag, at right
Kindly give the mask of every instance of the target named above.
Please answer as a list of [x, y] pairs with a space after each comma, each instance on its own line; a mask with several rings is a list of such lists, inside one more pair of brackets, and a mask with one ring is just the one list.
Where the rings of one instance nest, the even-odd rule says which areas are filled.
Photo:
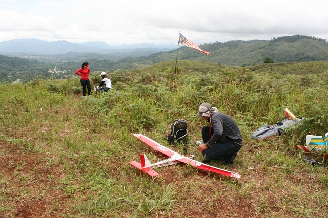
[[[262, 64], [265, 57], [275, 63], [305, 62], [328, 60], [328, 43], [324, 39], [310, 36], [283, 36], [272, 40], [215, 42], [199, 46], [210, 55], [182, 46], [179, 48], [178, 60], [193, 60], [221, 63], [226, 65], [249, 66]], [[177, 50], [159, 52], [144, 58], [136, 58], [139, 62], [152, 61], [159, 63], [176, 59]]]

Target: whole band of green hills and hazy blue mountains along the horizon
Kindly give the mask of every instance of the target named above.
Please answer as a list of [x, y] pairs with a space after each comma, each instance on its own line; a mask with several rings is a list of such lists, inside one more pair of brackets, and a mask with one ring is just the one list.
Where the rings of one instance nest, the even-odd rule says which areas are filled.
[[[282, 36], [270, 40], [216, 41], [199, 45], [202, 50], [209, 51], [210, 55], [205, 55], [186, 46], [179, 46], [177, 57], [176, 45], [170, 44], [110, 46], [102, 41], [70, 43], [67, 41], [45, 42], [38, 39], [16, 39], [0, 42], [0, 54], [16, 53], [16, 55], [6, 55], [52, 64], [96, 59], [111, 62], [119, 61], [122, 69], [129, 69], [133, 64], [138, 64], [143, 68], [149, 64], [175, 60], [176, 57], [178, 61], [213, 62], [229, 66], [262, 64], [266, 57], [271, 58], [275, 63], [328, 60], [328, 43], [326, 40], [305, 35]], [[36, 55], [42, 52], [52, 54], [49, 56]], [[28, 56], [28, 53], [31, 55]], [[116, 67], [115, 64], [110, 64], [113, 68]]]

